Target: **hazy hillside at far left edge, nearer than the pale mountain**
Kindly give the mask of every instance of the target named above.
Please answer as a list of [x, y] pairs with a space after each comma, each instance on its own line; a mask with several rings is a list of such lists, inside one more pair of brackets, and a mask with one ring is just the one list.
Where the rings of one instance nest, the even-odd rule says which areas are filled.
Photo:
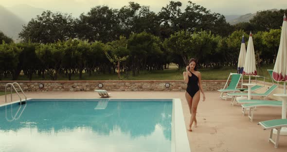
[[22, 30], [22, 25], [26, 24], [26, 22], [1, 5], [0, 14], [0, 31], [15, 41], [18, 41], [18, 33]]

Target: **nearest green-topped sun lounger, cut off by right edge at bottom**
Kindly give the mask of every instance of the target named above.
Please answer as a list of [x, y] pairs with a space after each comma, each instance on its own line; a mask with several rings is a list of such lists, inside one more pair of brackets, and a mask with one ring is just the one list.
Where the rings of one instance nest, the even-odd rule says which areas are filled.
[[[274, 119], [274, 120], [268, 120], [268, 121], [261, 121], [258, 123], [258, 125], [261, 125], [264, 130], [269, 130], [269, 129], [271, 130], [270, 135], [269, 135], [269, 141], [275, 144], [275, 148], [277, 148], [278, 143], [279, 143], [281, 128], [287, 127], [287, 119]], [[275, 141], [272, 139], [273, 129], [277, 130], [277, 137]]]

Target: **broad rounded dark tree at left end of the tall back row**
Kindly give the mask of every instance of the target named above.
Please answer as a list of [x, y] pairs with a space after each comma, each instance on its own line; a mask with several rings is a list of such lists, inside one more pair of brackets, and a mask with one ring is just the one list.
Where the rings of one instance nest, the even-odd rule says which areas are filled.
[[74, 19], [60, 12], [44, 11], [23, 26], [19, 38], [24, 42], [54, 43], [74, 38]]

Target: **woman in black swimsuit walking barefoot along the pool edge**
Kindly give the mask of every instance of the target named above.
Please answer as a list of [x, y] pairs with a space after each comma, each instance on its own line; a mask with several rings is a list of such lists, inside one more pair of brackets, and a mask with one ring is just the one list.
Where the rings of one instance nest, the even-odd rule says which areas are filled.
[[203, 99], [205, 100], [205, 95], [201, 85], [201, 74], [197, 71], [197, 62], [196, 59], [191, 58], [189, 60], [189, 65], [186, 66], [186, 72], [183, 72], [183, 80], [187, 83], [187, 88], [185, 92], [185, 98], [189, 106], [189, 112], [191, 114], [189, 129], [188, 131], [192, 132], [191, 126], [194, 124], [194, 127], [197, 127], [197, 105], [200, 99], [200, 92], [202, 93]]

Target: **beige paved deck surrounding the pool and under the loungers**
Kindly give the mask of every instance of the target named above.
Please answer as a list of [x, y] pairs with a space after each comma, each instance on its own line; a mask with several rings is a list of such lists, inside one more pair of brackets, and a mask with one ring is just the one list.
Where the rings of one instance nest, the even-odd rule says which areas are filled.
[[[111, 91], [110, 98], [180, 98], [185, 125], [190, 113], [185, 92]], [[28, 98], [100, 98], [96, 92], [26, 92]], [[219, 99], [219, 92], [206, 92], [206, 101], [197, 107], [198, 127], [187, 132], [191, 152], [287, 152], [287, 136], [280, 136], [279, 147], [268, 142], [269, 130], [257, 125], [259, 121], [281, 118], [281, 108], [259, 107], [253, 122], [241, 114], [240, 105]], [[10, 100], [10, 96], [7, 98]], [[18, 96], [13, 94], [13, 99]], [[0, 104], [5, 102], [0, 96]]]

